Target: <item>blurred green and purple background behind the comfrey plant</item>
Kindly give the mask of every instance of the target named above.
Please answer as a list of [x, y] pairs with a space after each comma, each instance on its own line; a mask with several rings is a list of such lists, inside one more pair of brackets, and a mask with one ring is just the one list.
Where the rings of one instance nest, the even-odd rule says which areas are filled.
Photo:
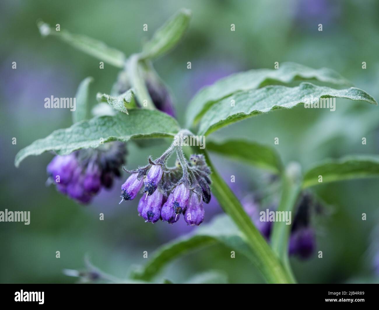
[[[79, 206], [53, 187], [46, 187], [46, 165], [52, 154], [30, 157], [20, 168], [13, 165], [17, 151], [54, 129], [71, 124], [69, 111], [45, 109], [44, 98], [74, 97], [78, 84], [93, 76], [92, 104], [96, 92], [109, 92], [118, 69], [64, 44], [42, 38], [36, 21], [86, 34], [106, 42], [126, 55], [177, 9], [192, 10], [188, 33], [180, 45], [155, 62], [171, 88], [177, 115], [183, 123], [189, 99], [206, 84], [240, 70], [273, 68], [274, 62], [294, 61], [314, 68], [329, 67], [379, 100], [379, 4], [377, 1], [2, 1], [1, 20], [1, 134], [2, 168], [0, 210], [30, 210], [31, 223], [0, 223], [0, 282], [74, 283], [62, 269], [81, 269], [88, 254], [103, 271], [126, 277], [131, 266], [143, 264], [143, 251], [153, 250], [183, 231], [158, 222], [145, 224], [137, 216], [136, 201], [119, 205], [120, 187], [102, 191], [89, 206]], [[149, 31], [143, 31], [147, 23]], [[230, 31], [234, 23], [236, 31]], [[318, 24], [323, 31], [318, 31]], [[17, 69], [12, 70], [12, 62]], [[188, 61], [192, 69], [186, 69]], [[367, 69], [362, 69], [362, 61]], [[303, 169], [326, 158], [347, 154], [377, 154], [379, 109], [366, 103], [337, 100], [335, 112], [297, 107], [276, 111], [228, 126], [212, 137], [245, 137], [277, 145], [285, 163], [298, 161]], [[12, 138], [17, 144], [12, 144]], [[362, 137], [367, 144], [362, 145]], [[128, 143], [127, 168], [144, 164], [169, 145], [152, 143], [139, 148]], [[226, 181], [236, 175], [234, 190], [240, 195], [262, 187], [262, 171], [213, 156]], [[373, 260], [379, 252], [377, 235], [379, 180], [367, 179], [321, 185], [314, 191], [327, 203], [326, 215], [316, 226], [316, 254], [301, 261], [291, 259], [301, 283], [378, 282]], [[215, 198], [213, 198], [215, 199]], [[213, 207], [207, 213], [221, 212]], [[99, 213], [105, 220], [99, 221]], [[362, 213], [367, 220], [362, 221]], [[181, 225], [181, 226], [180, 226]], [[61, 258], [55, 258], [60, 251]], [[217, 245], [186, 255], [160, 274], [184, 282], [208, 269], [227, 273], [231, 283], [262, 282], [241, 255], [230, 259], [230, 249]]]

